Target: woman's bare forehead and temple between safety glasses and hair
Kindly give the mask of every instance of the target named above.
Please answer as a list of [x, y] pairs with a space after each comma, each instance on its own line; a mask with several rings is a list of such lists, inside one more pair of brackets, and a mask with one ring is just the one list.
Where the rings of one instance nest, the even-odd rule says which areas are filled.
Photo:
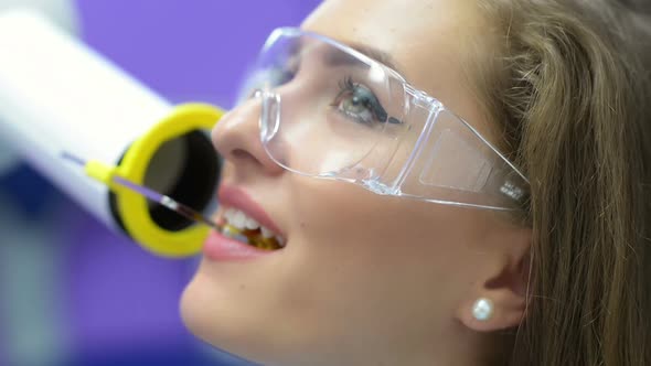
[[410, 84], [485, 131], [469, 67], [484, 24], [473, 0], [326, 0], [302, 28], [389, 54]]

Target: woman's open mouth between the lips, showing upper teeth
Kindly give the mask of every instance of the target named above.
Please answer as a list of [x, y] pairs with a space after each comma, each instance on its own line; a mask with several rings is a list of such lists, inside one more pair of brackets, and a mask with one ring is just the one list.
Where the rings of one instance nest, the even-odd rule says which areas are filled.
[[227, 207], [218, 218], [224, 225], [222, 235], [264, 250], [278, 250], [285, 247], [285, 238], [260, 225], [243, 211]]

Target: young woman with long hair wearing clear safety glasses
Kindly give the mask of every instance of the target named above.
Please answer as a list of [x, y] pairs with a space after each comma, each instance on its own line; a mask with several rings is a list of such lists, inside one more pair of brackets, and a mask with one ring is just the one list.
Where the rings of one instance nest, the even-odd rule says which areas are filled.
[[188, 326], [265, 365], [650, 364], [645, 17], [327, 0], [275, 31], [213, 131], [232, 229]]

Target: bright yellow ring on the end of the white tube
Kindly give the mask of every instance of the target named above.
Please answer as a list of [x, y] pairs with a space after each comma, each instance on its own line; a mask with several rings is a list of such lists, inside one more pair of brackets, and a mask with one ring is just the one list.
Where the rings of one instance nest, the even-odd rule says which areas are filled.
[[[116, 173], [134, 183], [143, 184], [149, 163], [163, 143], [195, 130], [212, 129], [223, 114], [223, 110], [204, 104], [175, 107], [169, 117], [134, 142]], [[206, 226], [167, 230], [152, 219], [147, 198], [120, 186], [114, 186], [114, 192], [125, 229], [146, 249], [163, 257], [188, 257], [201, 251], [209, 234]]]

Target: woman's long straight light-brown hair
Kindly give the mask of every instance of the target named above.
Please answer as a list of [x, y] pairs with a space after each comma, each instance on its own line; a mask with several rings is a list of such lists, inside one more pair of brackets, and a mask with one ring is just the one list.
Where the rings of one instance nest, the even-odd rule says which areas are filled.
[[532, 184], [511, 364], [651, 365], [651, 20], [616, 1], [479, 3], [500, 49], [477, 88]]

